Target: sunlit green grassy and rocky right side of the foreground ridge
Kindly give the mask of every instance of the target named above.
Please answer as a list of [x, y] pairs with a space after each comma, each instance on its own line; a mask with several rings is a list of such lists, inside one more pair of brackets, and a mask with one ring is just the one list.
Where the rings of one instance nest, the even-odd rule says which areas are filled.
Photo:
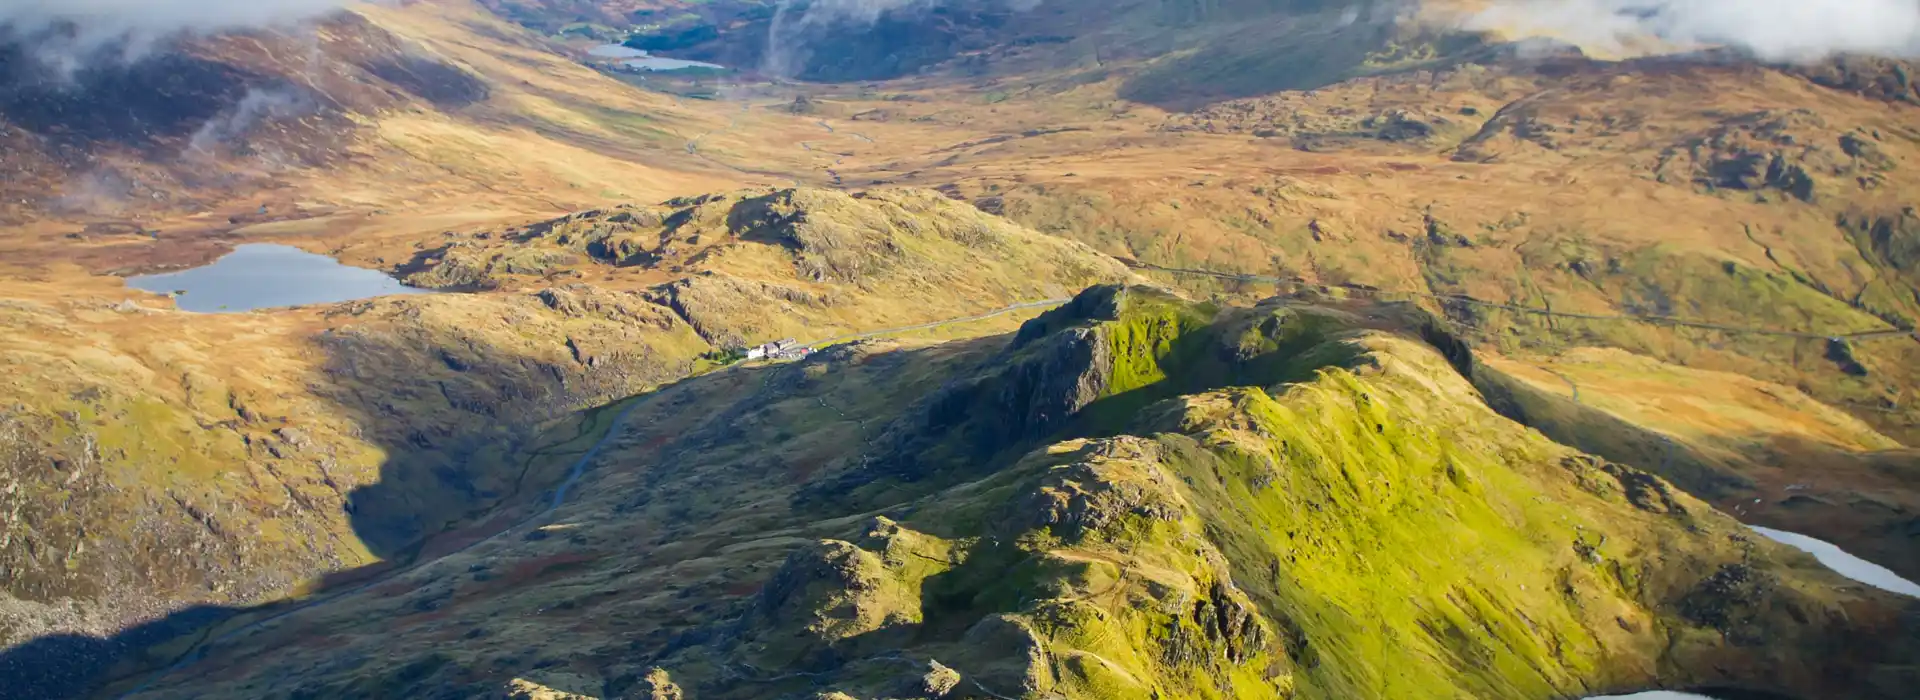
[[[1091, 330], [1106, 349], [1085, 364], [1096, 391], [1062, 430], [1112, 437], [1043, 447], [795, 554], [760, 606], [804, 614], [749, 616], [735, 654], [780, 667], [910, 644], [977, 692], [1087, 698], [1548, 698], [1655, 677], [1818, 694], [1836, 667], [1910, 654], [1807, 623], [1899, 602], [1653, 476], [1500, 418], [1432, 347], [1365, 328], [1413, 318], [1405, 309], [1219, 313], [1106, 293], [1029, 324], [1016, 357], [1044, 347], [1035, 336]], [[1210, 353], [1227, 349], [1244, 355]], [[1298, 372], [1304, 359], [1321, 370]], [[1271, 366], [1286, 370], [1246, 372]], [[972, 393], [1004, 397], [1021, 376]], [[1098, 410], [1152, 387], [1173, 399], [1127, 401], [1125, 424]], [[943, 468], [977, 474], [958, 458], [977, 449], [910, 445], [935, 456], [862, 489], [893, 479], [897, 497], [943, 483]], [[808, 579], [793, 587], [806, 595], [787, 577]], [[899, 683], [885, 665], [831, 677], [881, 694]]]

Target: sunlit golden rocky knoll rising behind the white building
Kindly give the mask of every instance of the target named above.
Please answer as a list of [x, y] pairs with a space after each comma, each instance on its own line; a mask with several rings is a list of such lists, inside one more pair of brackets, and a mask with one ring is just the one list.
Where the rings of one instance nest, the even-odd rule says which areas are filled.
[[[1089, 282], [1123, 274], [1091, 249], [1043, 240], [935, 192], [793, 188], [618, 205], [499, 232], [472, 232], [420, 253], [405, 268], [405, 280], [440, 290], [486, 290], [607, 265], [716, 272], [722, 261], [755, 245], [781, 249], [780, 257], [791, 268], [778, 270], [778, 276], [860, 290], [897, 276], [950, 280], [954, 272], [929, 270], [962, 263], [943, 257], [948, 251], [993, 255], [1014, 265], [1062, 265], [1071, 274], [1089, 276]], [[764, 265], [753, 255], [743, 263]]]

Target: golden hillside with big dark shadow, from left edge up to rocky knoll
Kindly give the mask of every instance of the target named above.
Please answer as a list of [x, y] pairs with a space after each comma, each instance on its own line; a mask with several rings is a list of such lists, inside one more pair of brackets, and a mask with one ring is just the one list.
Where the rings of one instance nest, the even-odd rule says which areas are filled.
[[[524, 290], [209, 316], [10, 305], [21, 332], [0, 357], [44, 368], [8, 384], [0, 433], [0, 502], [19, 527], [0, 547], [8, 642], [313, 595], [444, 556], [545, 504], [611, 430], [616, 408], [595, 407], [747, 343], [973, 316], [1129, 276], [925, 192], [743, 192], [528, 230], [563, 244], [534, 234], [515, 255], [630, 290], [472, 263], [507, 240], [476, 232], [415, 276], [478, 265], [488, 286]], [[647, 259], [588, 253], [624, 245], [614, 232]], [[653, 253], [687, 240], [691, 259]], [[250, 351], [225, 351], [232, 338]]]

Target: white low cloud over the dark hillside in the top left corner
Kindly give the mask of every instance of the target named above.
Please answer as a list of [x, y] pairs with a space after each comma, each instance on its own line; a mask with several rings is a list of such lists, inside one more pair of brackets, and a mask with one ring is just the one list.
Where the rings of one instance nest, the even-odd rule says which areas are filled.
[[346, 0], [0, 0], [0, 42], [61, 75], [90, 61], [134, 61], [180, 35], [290, 25]]

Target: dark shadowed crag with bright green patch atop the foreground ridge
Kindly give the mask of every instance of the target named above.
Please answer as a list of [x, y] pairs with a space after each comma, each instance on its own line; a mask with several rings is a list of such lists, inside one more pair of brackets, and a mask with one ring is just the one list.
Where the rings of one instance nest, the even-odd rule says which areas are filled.
[[870, 453], [804, 497], [947, 483], [1039, 439], [1117, 432], [1146, 405], [1181, 391], [1300, 380], [1346, 359], [1336, 343], [1323, 343], [1340, 324], [1327, 313], [1269, 305], [1217, 316], [1219, 309], [1165, 290], [1089, 288], [1023, 324], [981, 372], [918, 401]]

